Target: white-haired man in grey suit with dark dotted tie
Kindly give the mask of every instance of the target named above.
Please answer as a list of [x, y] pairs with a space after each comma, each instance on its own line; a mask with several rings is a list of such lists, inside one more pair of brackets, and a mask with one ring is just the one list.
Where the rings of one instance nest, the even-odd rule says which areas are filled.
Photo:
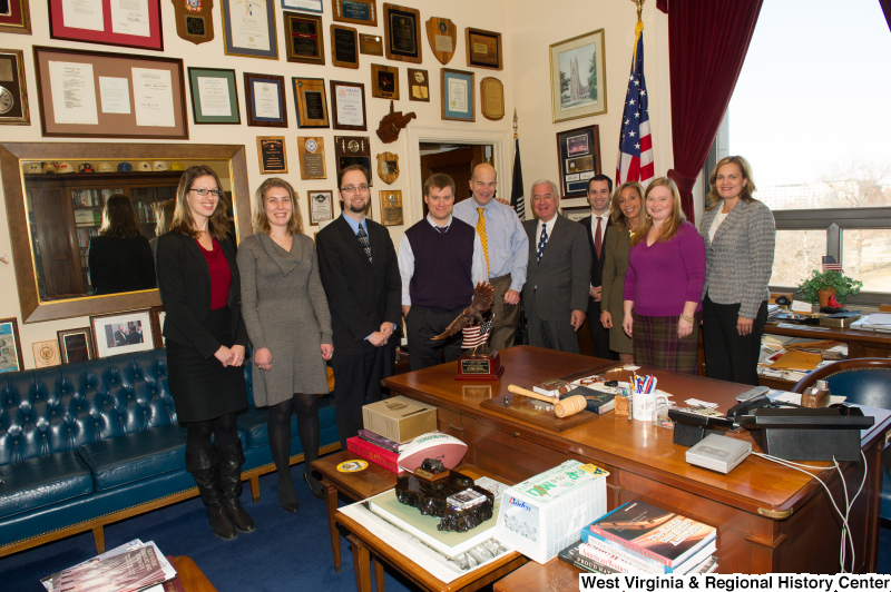
[[588, 308], [591, 254], [585, 229], [557, 213], [560, 194], [548, 180], [532, 184], [532, 209], [526, 220], [529, 265], [522, 288], [529, 345], [578, 354], [576, 332]]

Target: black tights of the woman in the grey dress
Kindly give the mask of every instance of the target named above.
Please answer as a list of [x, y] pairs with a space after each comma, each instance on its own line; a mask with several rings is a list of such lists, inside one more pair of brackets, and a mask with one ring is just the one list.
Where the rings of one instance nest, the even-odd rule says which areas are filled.
[[305, 466], [309, 468], [310, 462], [319, 458], [319, 397], [310, 393], [294, 393], [290, 399], [270, 407], [270, 450], [278, 478], [287, 481], [291, 481], [292, 406], [297, 410], [297, 432]]

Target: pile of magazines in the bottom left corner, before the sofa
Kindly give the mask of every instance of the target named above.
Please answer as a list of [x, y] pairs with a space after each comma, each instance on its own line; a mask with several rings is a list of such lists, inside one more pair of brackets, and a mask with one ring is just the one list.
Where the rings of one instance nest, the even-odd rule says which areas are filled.
[[154, 542], [136, 539], [40, 581], [50, 592], [184, 592], [176, 570]]

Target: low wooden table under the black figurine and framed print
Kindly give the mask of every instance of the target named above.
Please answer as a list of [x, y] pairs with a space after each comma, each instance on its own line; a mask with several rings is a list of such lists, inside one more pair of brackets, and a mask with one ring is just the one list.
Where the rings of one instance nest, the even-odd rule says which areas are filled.
[[[495, 476], [496, 473], [480, 471], [471, 465], [461, 465], [459, 471], [473, 478]], [[503, 481], [501, 477], [496, 477]], [[431, 592], [472, 592], [500, 580], [528, 560], [516, 551], [505, 553], [491, 563], [471, 571], [449, 583], [439, 580], [428, 572], [423, 565], [412, 561], [407, 555], [390, 546], [386, 542], [375, 536], [359, 522], [336, 512], [334, 521], [350, 532], [347, 539], [353, 545], [353, 568], [355, 569], [355, 584], [358, 592], [371, 592], [371, 566], [374, 563], [374, 579], [378, 592], [383, 592], [383, 566], [380, 561], [392, 565], [423, 590]]]

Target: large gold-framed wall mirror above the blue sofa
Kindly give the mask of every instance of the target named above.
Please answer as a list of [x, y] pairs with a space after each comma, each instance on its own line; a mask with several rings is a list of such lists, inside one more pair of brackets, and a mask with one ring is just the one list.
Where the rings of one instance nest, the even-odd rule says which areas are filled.
[[[164, 170], [169, 169], [173, 162], [177, 162], [174, 168], [193, 164], [206, 164], [214, 168], [221, 177], [223, 189], [231, 194], [236, 238], [241, 240], [252, 233], [244, 146], [0, 144], [0, 174], [23, 323], [160, 304], [157, 289], [90, 295], [89, 276], [81, 263], [85, 257], [82, 243], [87, 227], [85, 217], [101, 216], [101, 207], [97, 207], [96, 201], [90, 203], [89, 191], [98, 191], [98, 195], [121, 189], [128, 195], [133, 193], [135, 207], [146, 208], [138, 215], [149, 231], [148, 228], [154, 227], [150, 220], [154, 204], [147, 204], [146, 200], [166, 199], [175, 194], [178, 177], [175, 171]], [[63, 172], [70, 169], [78, 171], [85, 164], [90, 165], [92, 170], [85, 168], [84, 172]], [[107, 164], [101, 167], [104, 171], [98, 170], [99, 164]], [[126, 170], [126, 166], [118, 170], [118, 164], [129, 164], [133, 170]], [[140, 201], [135, 198], [137, 194], [149, 197]], [[95, 226], [95, 220], [88, 224]]]

